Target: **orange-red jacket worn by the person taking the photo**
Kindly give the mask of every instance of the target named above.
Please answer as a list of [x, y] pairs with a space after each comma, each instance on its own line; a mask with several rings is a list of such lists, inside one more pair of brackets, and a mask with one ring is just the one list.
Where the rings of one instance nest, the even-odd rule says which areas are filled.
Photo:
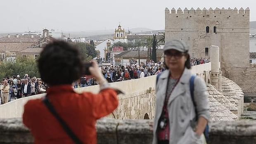
[[[84, 144], [96, 144], [96, 120], [118, 106], [117, 92], [111, 88], [98, 94], [78, 94], [71, 85], [52, 86], [47, 97], [59, 116]], [[24, 106], [23, 123], [31, 130], [35, 144], [73, 144], [42, 99], [29, 100]]]

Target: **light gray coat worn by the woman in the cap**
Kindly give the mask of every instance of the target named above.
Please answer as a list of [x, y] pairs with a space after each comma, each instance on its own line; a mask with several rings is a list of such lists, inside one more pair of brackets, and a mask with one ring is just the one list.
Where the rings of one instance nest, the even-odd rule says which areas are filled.
[[[176, 87], [168, 100], [168, 117], [170, 126], [169, 144], [200, 144], [203, 135], [198, 136], [192, 125], [196, 122], [195, 109], [190, 96], [190, 77], [192, 73], [185, 68]], [[161, 116], [166, 95], [169, 71], [161, 73], [156, 85], [156, 113], [154, 118], [153, 144], [157, 144], [157, 124]], [[198, 116], [209, 120], [208, 93], [204, 80], [200, 77], [194, 79], [194, 99], [197, 104]]]

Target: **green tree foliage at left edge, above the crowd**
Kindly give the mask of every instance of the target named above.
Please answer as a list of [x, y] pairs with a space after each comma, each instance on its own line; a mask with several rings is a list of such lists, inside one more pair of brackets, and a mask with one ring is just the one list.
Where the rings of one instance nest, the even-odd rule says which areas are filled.
[[0, 78], [28, 74], [30, 77], [40, 78], [36, 59], [17, 57], [15, 62], [3, 61], [0, 64]]

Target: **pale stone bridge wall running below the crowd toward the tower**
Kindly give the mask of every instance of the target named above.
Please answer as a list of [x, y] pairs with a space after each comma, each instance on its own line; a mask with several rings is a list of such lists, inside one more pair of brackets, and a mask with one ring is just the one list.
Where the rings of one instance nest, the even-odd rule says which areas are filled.
[[[211, 62], [193, 66], [191, 71], [203, 78], [206, 83], [211, 83]], [[125, 94], [119, 95], [118, 108], [107, 117], [116, 119], [154, 118], [156, 76], [110, 83], [110, 85], [119, 88]], [[85, 91], [97, 93], [100, 87], [94, 85], [74, 90], [78, 93]], [[24, 104], [30, 99], [38, 99], [43, 96], [45, 94], [38, 94], [0, 105], [0, 118], [21, 118]]]

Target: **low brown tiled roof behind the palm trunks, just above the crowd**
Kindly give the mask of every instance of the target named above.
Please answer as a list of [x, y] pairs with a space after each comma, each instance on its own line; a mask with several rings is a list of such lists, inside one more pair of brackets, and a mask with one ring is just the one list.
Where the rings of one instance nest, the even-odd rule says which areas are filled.
[[[162, 55], [164, 54], [163, 49], [157, 49], [156, 50], [156, 57], [161, 58]], [[125, 51], [121, 52], [120, 54], [115, 55], [115, 57], [122, 57], [122, 58], [138, 58], [139, 54], [137, 50], [132, 50], [132, 51]], [[140, 58], [147, 58], [147, 50], [140, 50]]]

